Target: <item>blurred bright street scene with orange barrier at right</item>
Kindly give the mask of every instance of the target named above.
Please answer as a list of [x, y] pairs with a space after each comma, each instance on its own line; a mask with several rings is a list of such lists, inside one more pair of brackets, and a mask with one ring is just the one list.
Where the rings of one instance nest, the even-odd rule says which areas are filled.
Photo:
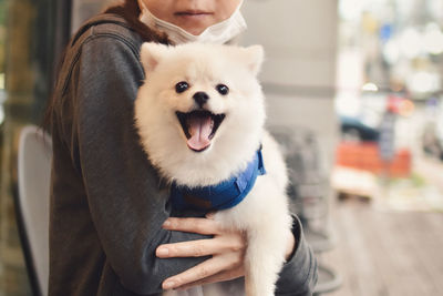
[[375, 200], [384, 184], [387, 208], [442, 211], [430, 170], [443, 170], [443, 1], [339, 3], [337, 164], [370, 172], [361, 180], [371, 190], [346, 188], [342, 177], [334, 187]]

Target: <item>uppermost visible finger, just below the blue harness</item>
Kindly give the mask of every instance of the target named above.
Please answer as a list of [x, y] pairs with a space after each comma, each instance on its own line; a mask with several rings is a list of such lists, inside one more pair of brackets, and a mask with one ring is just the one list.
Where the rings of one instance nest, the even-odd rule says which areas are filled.
[[215, 235], [222, 232], [219, 223], [212, 218], [169, 217], [163, 223], [163, 228], [203, 235]]

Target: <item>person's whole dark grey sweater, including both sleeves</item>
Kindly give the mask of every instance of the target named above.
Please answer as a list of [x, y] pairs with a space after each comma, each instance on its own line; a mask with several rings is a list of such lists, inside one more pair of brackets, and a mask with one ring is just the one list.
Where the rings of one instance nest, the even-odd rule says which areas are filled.
[[[205, 258], [161, 259], [155, 248], [202, 235], [162, 228], [168, 192], [133, 122], [143, 40], [120, 17], [92, 19], [66, 49], [55, 86], [50, 295], [158, 295], [161, 283]], [[182, 213], [193, 215], [193, 213]], [[311, 295], [317, 263], [300, 222], [278, 295]]]

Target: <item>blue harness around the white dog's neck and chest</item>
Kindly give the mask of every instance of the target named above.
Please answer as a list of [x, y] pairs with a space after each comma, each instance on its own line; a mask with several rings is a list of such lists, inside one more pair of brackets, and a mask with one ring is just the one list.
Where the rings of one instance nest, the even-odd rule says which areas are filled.
[[174, 182], [171, 187], [171, 202], [173, 207], [179, 211], [229, 208], [239, 204], [253, 188], [257, 176], [264, 174], [266, 171], [260, 147], [245, 171], [217, 185], [190, 188]]

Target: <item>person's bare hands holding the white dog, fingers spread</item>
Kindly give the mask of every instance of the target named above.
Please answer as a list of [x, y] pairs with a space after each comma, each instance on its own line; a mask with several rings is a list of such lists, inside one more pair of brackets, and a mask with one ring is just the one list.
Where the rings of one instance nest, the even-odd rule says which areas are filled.
[[[214, 221], [213, 215], [206, 218], [168, 218], [163, 227], [214, 236], [157, 247], [156, 255], [159, 258], [212, 256], [178, 275], [166, 278], [162, 284], [164, 289], [189, 288], [245, 275], [244, 258], [247, 242], [244, 232], [224, 229]], [[292, 254], [295, 245], [295, 237], [291, 235], [286, 252], [287, 259]]]

